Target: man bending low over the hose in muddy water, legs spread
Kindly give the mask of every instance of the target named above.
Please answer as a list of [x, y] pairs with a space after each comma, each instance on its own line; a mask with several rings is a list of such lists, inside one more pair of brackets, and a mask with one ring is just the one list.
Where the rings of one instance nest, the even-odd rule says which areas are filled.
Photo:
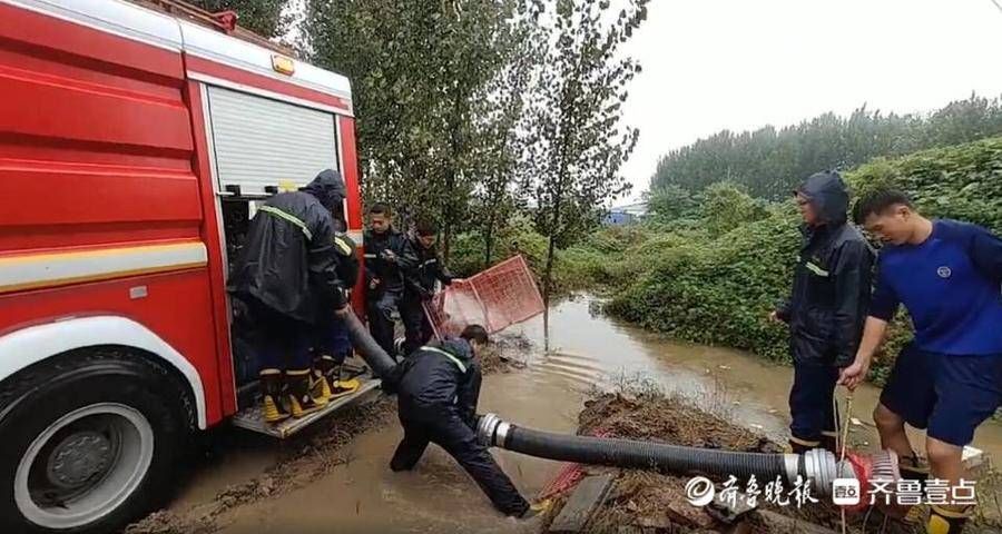
[[470, 325], [459, 338], [421, 347], [396, 366], [392, 382], [404, 437], [390, 468], [412, 469], [434, 443], [459, 462], [501, 513], [529, 517], [538, 510], [522, 498], [474, 432], [481, 383], [475, 355], [487, 343], [487, 330]]

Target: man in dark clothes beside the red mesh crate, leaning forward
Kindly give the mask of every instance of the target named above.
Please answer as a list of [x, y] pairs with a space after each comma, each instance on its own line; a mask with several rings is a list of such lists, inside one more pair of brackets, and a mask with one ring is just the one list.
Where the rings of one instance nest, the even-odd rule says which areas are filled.
[[452, 274], [439, 256], [435, 240], [439, 229], [433, 222], [419, 221], [411, 248], [418, 257], [418, 265], [407, 277], [403, 298], [400, 303], [400, 316], [404, 324], [404, 344], [402, 354], [411, 354], [432, 338], [434, 332], [424, 313], [423, 303], [435, 295], [435, 285], [452, 284]]

